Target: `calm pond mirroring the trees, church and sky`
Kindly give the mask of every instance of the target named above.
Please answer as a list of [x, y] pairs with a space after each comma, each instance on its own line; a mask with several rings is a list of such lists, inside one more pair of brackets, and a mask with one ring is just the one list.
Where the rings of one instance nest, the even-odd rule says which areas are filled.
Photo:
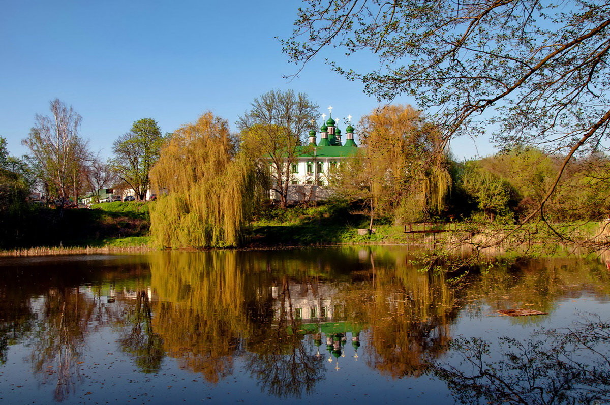
[[[0, 259], [6, 403], [603, 403], [601, 259], [404, 246]], [[498, 310], [545, 315], [508, 317]]]

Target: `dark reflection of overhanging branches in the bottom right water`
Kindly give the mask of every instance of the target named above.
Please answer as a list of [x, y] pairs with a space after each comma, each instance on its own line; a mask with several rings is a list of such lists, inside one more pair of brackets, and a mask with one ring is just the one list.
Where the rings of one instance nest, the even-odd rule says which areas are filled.
[[431, 373], [447, 382], [459, 403], [610, 401], [610, 323], [598, 318], [572, 329], [537, 332], [525, 341], [501, 338], [492, 345], [456, 339], [450, 348], [458, 365], [433, 362]]

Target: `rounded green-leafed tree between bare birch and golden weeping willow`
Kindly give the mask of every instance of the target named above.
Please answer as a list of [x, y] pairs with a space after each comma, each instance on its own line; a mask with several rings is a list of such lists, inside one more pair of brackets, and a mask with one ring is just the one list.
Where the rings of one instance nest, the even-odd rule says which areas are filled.
[[142, 118], [134, 122], [131, 130], [112, 144], [115, 154], [112, 167], [129, 187], [135, 198], [142, 201], [150, 187], [149, 173], [159, 159], [163, 136], [157, 121]]

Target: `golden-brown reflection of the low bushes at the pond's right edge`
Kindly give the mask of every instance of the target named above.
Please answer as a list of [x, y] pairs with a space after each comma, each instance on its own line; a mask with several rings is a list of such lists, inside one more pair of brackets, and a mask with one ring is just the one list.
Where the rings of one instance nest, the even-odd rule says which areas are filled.
[[[610, 274], [592, 260], [565, 258], [520, 259], [496, 266], [488, 273], [470, 279], [467, 299], [484, 303], [492, 309], [507, 305], [548, 312], [559, 298], [578, 298], [583, 285], [592, 285], [600, 298], [610, 293]], [[514, 322], [536, 322], [539, 317], [511, 318]]]

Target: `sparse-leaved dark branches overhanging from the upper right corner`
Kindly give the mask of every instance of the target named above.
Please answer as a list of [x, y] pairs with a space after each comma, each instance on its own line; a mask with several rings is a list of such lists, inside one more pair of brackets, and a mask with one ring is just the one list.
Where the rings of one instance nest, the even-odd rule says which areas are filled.
[[453, 135], [477, 134], [483, 122], [497, 124], [504, 145], [562, 151], [541, 212], [576, 152], [603, 145], [610, 123], [606, 2], [306, 2], [283, 41], [292, 61], [305, 63], [328, 46], [347, 55], [373, 52], [374, 71], [333, 66], [379, 99], [408, 94], [439, 109], [445, 145]]

